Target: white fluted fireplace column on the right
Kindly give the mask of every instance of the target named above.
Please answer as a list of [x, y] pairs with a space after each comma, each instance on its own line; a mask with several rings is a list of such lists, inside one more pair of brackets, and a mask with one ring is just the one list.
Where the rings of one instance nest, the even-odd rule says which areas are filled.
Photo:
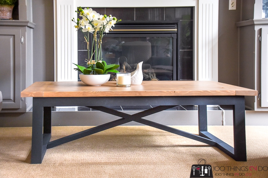
[[198, 80], [218, 81], [218, 1], [199, 0]]

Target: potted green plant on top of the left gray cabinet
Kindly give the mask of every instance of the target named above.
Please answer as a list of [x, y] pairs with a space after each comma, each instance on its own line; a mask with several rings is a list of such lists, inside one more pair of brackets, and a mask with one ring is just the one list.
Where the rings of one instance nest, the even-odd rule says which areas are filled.
[[16, 2], [17, 0], [0, 0], [0, 19], [12, 19], [12, 11]]

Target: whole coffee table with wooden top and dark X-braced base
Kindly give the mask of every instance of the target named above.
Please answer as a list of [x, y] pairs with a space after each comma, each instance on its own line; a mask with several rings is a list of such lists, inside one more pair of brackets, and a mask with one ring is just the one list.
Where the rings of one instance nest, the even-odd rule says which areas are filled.
[[[95, 87], [82, 82], [35, 82], [21, 92], [21, 97], [33, 97], [31, 164], [42, 163], [47, 149], [131, 121], [201, 141], [219, 148], [236, 161], [246, 161], [244, 96], [257, 94], [256, 90], [213, 81], [143, 81], [131, 87], [116, 87], [116, 82]], [[179, 105], [198, 105], [199, 135], [143, 118]], [[234, 147], [208, 132], [207, 105], [233, 106]], [[50, 141], [51, 107], [54, 106], [88, 106], [120, 119]], [[130, 115], [109, 106], [156, 107]]]

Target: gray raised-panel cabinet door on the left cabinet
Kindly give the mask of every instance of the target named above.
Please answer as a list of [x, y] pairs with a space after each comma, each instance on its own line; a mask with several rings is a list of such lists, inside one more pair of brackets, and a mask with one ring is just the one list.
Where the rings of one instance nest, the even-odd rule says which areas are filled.
[[21, 108], [21, 30], [0, 28], [0, 91], [3, 109]]

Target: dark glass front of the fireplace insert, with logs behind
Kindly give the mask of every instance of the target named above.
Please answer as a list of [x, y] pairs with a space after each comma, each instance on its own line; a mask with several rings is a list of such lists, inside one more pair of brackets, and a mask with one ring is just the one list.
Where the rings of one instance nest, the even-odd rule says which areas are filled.
[[172, 34], [107, 34], [102, 41], [102, 57], [107, 64], [119, 64], [120, 72], [133, 72], [143, 61], [144, 80], [174, 80], [173, 48], [176, 35]]

